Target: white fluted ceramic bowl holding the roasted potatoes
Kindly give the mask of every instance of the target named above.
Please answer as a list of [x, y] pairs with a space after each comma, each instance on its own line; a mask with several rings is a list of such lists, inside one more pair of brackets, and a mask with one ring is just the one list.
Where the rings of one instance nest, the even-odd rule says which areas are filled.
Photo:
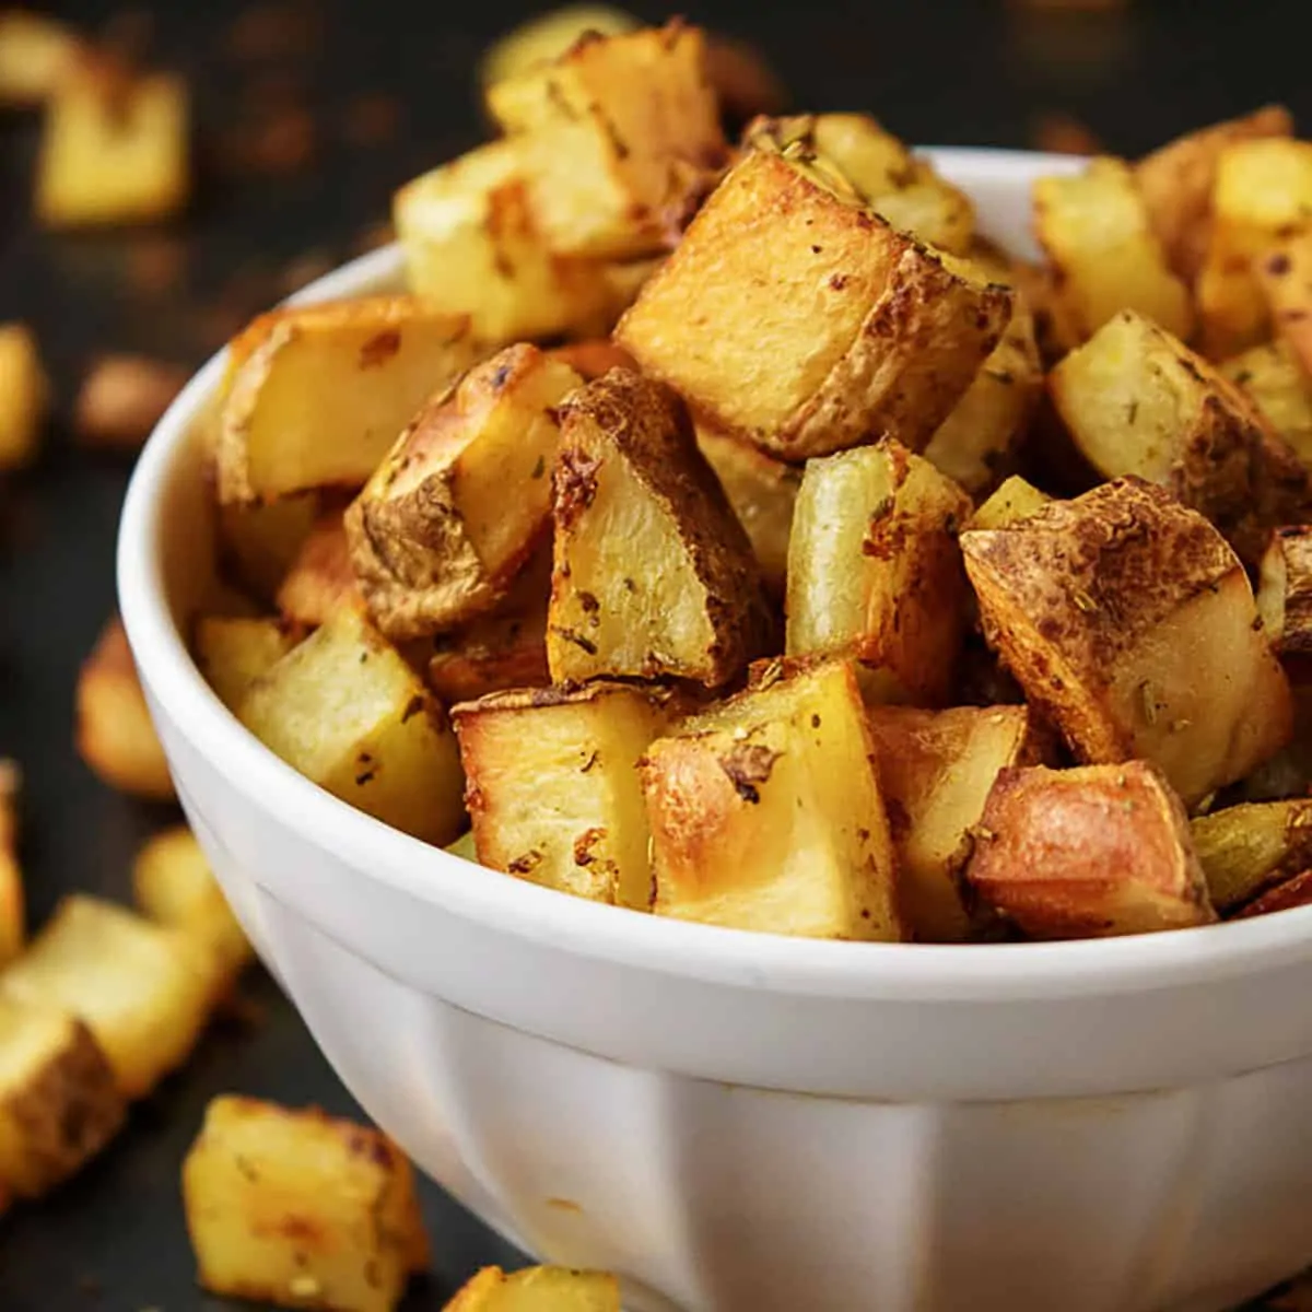
[[[1071, 160], [939, 151], [1027, 244]], [[311, 298], [395, 281], [382, 251]], [[1056, 945], [830, 943], [476, 870], [297, 775], [188, 655], [193, 420], [123, 510], [123, 618], [178, 795], [346, 1086], [419, 1164], [638, 1309], [1221, 1309], [1312, 1262], [1312, 908]]]

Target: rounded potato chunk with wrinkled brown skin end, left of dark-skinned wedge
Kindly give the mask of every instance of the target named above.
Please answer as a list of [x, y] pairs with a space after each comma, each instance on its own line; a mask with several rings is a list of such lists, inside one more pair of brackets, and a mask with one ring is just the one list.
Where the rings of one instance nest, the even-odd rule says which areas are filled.
[[556, 407], [581, 379], [525, 344], [420, 409], [346, 513], [374, 622], [420, 638], [489, 610], [551, 520]]

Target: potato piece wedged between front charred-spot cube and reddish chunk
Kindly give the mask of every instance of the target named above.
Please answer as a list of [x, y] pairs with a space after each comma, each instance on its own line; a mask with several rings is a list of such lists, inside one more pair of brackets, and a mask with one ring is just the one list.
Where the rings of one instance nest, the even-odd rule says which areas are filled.
[[911, 935], [962, 942], [971, 930], [960, 891], [971, 829], [998, 771], [1047, 756], [1044, 736], [1025, 706], [869, 711]]

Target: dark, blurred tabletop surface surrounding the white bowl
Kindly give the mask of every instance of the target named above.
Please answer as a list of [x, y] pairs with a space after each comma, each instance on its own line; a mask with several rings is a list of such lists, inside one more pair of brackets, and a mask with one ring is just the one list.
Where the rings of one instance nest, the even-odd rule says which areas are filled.
[[[1140, 0], [1072, 12], [1004, 0], [690, 4], [752, 41], [806, 109], [871, 109], [925, 143], [1050, 143], [1068, 121], [1134, 155], [1203, 122], [1283, 101], [1312, 127], [1305, 0]], [[487, 135], [480, 51], [530, 4], [403, 0], [47, 7], [176, 68], [194, 96], [195, 203], [167, 227], [50, 235], [28, 220], [39, 117], [0, 115], [0, 320], [37, 331], [56, 384], [37, 467], [0, 482], [0, 754], [25, 771], [30, 918], [59, 895], [126, 897], [139, 841], [176, 816], [110, 794], [72, 749], [77, 665], [114, 606], [113, 544], [129, 464], [76, 450], [67, 416], [98, 350], [199, 363], [244, 318], [377, 240], [392, 190]], [[628, 5], [660, 20], [666, 10]], [[353, 1113], [265, 977], [97, 1162], [0, 1219], [3, 1312], [185, 1312], [201, 1295], [178, 1165], [205, 1103], [239, 1090]], [[434, 1274], [407, 1303], [440, 1308], [478, 1265], [516, 1254], [429, 1187]]]

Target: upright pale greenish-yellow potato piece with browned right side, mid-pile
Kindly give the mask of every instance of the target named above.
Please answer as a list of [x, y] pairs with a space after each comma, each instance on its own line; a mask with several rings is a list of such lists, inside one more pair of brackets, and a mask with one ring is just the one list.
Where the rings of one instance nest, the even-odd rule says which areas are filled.
[[962, 489], [896, 442], [807, 462], [789, 543], [790, 656], [857, 661], [867, 698], [947, 698], [966, 628]]

